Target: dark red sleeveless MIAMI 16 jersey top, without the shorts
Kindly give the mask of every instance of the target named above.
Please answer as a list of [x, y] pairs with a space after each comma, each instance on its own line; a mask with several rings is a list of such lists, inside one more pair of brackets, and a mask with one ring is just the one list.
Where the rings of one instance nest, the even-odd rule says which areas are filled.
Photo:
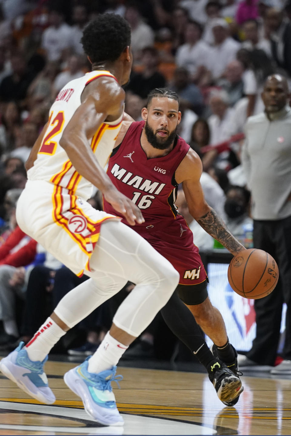
[[[178, 184], [175, 171], [190, 146], [177, 136], [170, 153], [148, 159], [140, 145], [143, 128], [144, 121], [130, 125], [122, 143], [110, 156], [107, 174], [117, 189], [141, 209], [145, 219], [142, 226], [153, 225], [157, 228], [176, 219]], [[105, 200], [104, 210], [116, 215], [116, 211]]]

